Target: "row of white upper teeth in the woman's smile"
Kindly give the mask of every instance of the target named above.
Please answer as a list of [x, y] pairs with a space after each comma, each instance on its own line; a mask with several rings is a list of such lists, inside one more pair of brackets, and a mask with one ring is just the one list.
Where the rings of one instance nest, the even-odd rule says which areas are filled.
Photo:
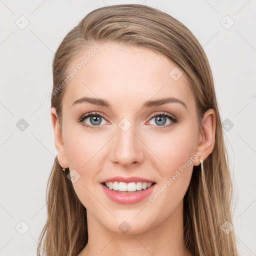
[[152, 182], [130, 182], [130, 183], [125, 183], [125, 182], [106, 182], [106, 186], [109, 189], [113, 190], [119, 190], [119, 191], [128, 191], [128, 192], [133, 192], [136, 190], [141, 190], [141, 189], [146, 189], [152, 185]]

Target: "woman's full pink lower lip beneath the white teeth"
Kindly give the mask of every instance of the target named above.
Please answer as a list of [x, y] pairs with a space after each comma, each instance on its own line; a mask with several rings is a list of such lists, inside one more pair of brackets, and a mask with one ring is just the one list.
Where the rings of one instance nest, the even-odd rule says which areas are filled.
[[100, 184], [103, 188], [103, 191], [105, 192], [105, 194], [114, 202], [117, 203], [136, 203], [141, 201], [142, 199], [144, 199], [145, 197], [149, 196], [149, 194], [153, 191], [154, 186], [156, 183], [154, 183], [153, 185], [151, 185], [150, 187], [148, 187], [147, 189], [143, 190], [139, 190], [137, 192], [133, 192], [133, 193], [128, 193], [128, 192], [116, 192], [113, 189], [109, 189], [107, 188], [105, 185], [103, 185], [102, 183]]

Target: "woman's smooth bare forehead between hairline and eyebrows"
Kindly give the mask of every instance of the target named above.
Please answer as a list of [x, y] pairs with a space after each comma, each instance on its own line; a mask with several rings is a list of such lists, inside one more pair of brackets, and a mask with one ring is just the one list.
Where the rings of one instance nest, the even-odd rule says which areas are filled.
[[75, 73], [64, 102], [83, 96], [104, 98], [116, 107], [171, 96], [194, 104], [186, 75], [164, 54], [145, 47], [105, 42], [78, 54], [68, 65]]

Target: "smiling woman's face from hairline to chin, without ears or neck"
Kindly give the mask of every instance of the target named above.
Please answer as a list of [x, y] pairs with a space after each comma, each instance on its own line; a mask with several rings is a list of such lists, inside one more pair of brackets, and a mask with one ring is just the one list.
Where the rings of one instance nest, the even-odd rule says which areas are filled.
[[[87, 215], [111, 231], [121, 232], [123, 221], [130, 232], [146, 231], [182, 207], [199, 128], [192, 91], [175, 66], [159, 52], [107, 42], [69, 65], [78, 72], [62, 99], [61, 157]], [[110, 181], [140, 190], [110, 189]]]

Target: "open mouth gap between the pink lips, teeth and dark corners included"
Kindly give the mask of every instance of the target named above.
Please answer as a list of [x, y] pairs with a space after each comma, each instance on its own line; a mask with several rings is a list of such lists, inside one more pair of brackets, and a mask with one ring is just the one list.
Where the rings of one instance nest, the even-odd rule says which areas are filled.
[[118, 181], [109, 181], [109, 182], [102, 182], [102, 185], [107, 187], [109, 190], [114, 190], [118, 193], [137, 193], [139, 191], [143, 191], [148, 189], [149, 187], [153, 186], [155, 182], [118, 182]]

